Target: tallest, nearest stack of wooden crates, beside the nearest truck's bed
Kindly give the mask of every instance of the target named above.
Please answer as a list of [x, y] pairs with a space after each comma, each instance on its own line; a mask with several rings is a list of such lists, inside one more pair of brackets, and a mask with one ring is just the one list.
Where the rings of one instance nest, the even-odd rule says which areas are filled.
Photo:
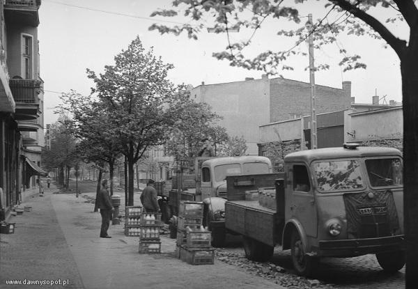
[[192, 265], [213, 264], [210, 231], [203, 228], [203, 203], [181, 201], [177, 223], [177, 257]]

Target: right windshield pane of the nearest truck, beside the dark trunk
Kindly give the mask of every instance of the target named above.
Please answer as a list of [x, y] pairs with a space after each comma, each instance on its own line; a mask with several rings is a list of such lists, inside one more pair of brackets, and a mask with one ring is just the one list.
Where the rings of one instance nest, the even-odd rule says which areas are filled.
[[398, 157], [366, 159], [366, 169], [372, 187], [400, 187], [402, 162]]

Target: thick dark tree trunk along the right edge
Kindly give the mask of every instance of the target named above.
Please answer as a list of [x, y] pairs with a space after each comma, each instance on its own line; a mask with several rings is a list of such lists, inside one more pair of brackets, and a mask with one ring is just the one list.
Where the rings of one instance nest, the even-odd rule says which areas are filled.
[[403, 94], [403, 208], [406, 239], [406, 288], [418, 276], [418, 31], [411, 30], [408, 51], [401, 58]]

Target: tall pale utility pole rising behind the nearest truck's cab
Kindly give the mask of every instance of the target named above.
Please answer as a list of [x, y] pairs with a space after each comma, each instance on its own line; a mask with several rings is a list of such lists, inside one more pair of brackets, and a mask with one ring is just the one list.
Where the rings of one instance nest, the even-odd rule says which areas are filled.
[[317, 130], [316, 130], [316, 101], [315, 101], [315, 63], [314, 63], [314, 23], [312, 22], [312, 14], [308, 15], [309, 22], [309, 81], [311, 83], [311, 149], [318, 148]]

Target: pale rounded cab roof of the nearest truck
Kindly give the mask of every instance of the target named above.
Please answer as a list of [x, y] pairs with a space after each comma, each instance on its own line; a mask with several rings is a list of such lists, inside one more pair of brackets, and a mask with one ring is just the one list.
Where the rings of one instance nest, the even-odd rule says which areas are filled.
[[316, 150], [301, 150], [290, 153], [284, 157], [285, 162], [308, 162], [316, 159], [336, 159], [341, 157], [378, 157], [392, 155], [402, 157], [402, 153], [396, 148], [382, 148], [377, 146], [359, 146], [349, 148], [318, 148]]

